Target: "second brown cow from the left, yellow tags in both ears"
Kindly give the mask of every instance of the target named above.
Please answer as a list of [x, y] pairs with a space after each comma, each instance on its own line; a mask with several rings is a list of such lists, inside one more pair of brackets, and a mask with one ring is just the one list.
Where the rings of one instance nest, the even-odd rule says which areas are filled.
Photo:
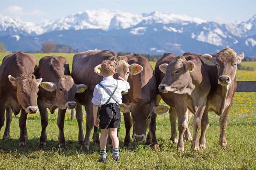
[[59, 127], [59, 146], [66, 147], [64, 137], [64, 121], [66, 109], [74, 109], [75, 93], [82, 93], [88, 87], [84, 84], [76, 85], [70, 76], [69, 63], [62, 56], [46, 56], [40, 59], [38, 77], [43, 78], [40, 84], [37, 104], [41, 116], [42, 132], [39, 147], [46, 145], [46, 127], [48, 125], [47, 108], [51, 113], [58, 110], [57, 125]]

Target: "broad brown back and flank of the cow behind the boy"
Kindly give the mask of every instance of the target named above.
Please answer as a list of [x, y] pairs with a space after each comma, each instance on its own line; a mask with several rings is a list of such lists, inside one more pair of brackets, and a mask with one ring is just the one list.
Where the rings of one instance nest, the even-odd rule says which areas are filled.
[[85, 93], [75, 95], [80, 104], [85, 105], [86, 95], [93, 96], [95, 85], [102, 81], [103, 77], [94, 73], [94, 67], [113, 56], [116, 56], [116, 54], [109, 50], [90, 50], [74, 55], [71, 76], [75, 84], [88, 85]]

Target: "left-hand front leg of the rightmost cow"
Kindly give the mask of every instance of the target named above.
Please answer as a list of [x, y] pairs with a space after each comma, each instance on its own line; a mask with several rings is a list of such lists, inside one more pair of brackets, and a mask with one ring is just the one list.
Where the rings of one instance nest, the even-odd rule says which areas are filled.
[[201, 121], [201, 136], [199, 139], [199, 146], [202, 149], [205, 149], [205, 134], [206, 134], [206, 130], [209, 127], [209, 119], [208, 119], [208, 109], [206, 108], [205, 111], [203, 112], [203, 116], [202, 116], [202, 121]]

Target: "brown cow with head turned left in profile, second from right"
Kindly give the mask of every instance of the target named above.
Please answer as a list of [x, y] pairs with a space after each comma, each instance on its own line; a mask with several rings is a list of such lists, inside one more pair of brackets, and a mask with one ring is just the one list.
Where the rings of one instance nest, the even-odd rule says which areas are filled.
[[187, 110], [189, 109], [194, 114], [193, 150], [199, 151], [198, 132], [201, 128], [206, 97], [210, 91], [206, 67], [198, 57], [192, 57], [188, 61], [184, 56], [166, 57], [158, 60], [155, 72], [158, 73], [156, 76], [160, 71], [165, 73], [159, 85], [161, 97], [168, 105], [175, 107], [177, 112], [179, 129], [177, 149], [184, 150], [183, 135], [187, 129]]

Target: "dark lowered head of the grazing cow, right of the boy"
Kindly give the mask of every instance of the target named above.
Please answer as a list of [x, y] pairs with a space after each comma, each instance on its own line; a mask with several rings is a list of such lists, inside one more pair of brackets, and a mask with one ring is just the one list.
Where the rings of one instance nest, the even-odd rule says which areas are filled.
[[153, 106], [149, 100], [136, 98], [132, 103], [121, 104], [121, 112], [132, 112], [132, 125], [134, 128], [133, 139], [136, 141], [146, 140], [146, 131], [151, 121], [151, 113], [163, 114], [168, 111], [166, 106]]

